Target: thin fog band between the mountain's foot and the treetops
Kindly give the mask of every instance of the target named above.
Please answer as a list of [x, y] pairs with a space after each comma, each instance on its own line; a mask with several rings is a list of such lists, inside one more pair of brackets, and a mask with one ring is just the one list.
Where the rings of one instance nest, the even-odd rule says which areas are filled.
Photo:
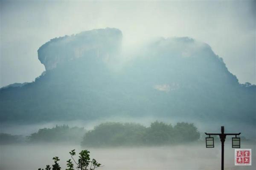
[[150, 124], [154, 121], [163, 121], [167, 124], [175, 125], [177, 122], [188, 122], [193, 123], [198, 128], [198, 131], [201, 133], [219, 133], [221, 126], [225, 126], [226, 133], [239, 133], [241, 132], [241, 136], [245, 136], [249, 139], [256, 139], [256, 129], [253, 125], [246, 124], [232, 124], [226, 122], [225, 124], [221, 122], [215, 122], [212, 124], [211, 121], [198, 121], [196, 118], [190, 118], [189, 121], [184, 118], [160, 118], [160, 117], [143, 117], [143, 118], [132, 118], [132, 117], [110, 117], [110, 118], [102, 118], [94, 121], [83, 121], [83, 120], [74, 120], [74, 121], [52, 121], [52, 122], [42, 122], [36, 124], [15, 124], [15, 123], [1, 123], [0, 125], [0, 133], [9, 133], [12, 135], [30, 135], [32, 133], [38, 132], [39, 129], [42, 128], [52, 128], [56, 125], [67, 124], [70, 127], [84, 127], [86, 130], [92, 130], [95, 126], [104, 123], [104, 122], [134, 122], [142, 124], [146, 127], [150, 126]]

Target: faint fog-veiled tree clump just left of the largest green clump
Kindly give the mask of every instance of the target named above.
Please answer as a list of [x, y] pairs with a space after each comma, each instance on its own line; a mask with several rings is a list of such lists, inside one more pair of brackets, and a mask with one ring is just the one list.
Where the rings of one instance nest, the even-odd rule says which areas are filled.
[[44, 128], [38, 130], [37, 133], [32, 133], [28, 136], [28, 142], [64, 142], [64, 143], [80, 143], [82, 136], [86, 130], [83, 127], [68, 127], [67, 125], [53, 128]]

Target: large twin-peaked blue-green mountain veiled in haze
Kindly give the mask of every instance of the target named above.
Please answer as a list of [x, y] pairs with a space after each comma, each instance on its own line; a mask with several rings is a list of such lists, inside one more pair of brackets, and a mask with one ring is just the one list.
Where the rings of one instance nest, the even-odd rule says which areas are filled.
[[0, 89], [0, 121], [147, 116], [255, 126], [256, 86], [239, 84], [211, 47], [159, 38], [129, 54], [119, 29], [58, 37], [38, 49], [46, 71]]

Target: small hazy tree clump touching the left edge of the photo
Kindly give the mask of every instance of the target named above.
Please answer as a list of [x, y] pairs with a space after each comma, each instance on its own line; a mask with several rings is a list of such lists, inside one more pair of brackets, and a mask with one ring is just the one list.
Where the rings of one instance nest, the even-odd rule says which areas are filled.
[[0, 133], [0, 144], [18, 144], [24, 142], [22, 135], [11, 135], [7, 133]]

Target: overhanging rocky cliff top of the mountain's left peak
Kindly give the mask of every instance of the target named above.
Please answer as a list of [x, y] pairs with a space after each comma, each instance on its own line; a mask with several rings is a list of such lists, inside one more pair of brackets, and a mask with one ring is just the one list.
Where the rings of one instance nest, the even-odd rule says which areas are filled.
[[38, 59], [46, 70], [76, 58], [95, 54], [101, 60], [119, 51], [122, 32], [119, 29], [94, 29], [76, 35], [58, 37], [38, 49]]

